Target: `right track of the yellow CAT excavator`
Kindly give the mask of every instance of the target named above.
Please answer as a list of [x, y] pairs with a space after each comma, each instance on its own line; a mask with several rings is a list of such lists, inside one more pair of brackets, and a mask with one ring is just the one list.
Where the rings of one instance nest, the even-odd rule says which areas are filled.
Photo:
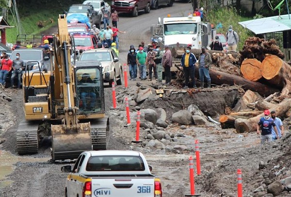
[[109, 131], [108, 116], [93, 120], [90, 122], [90, 125], [93, 150], [106, 150], [107, 132]]

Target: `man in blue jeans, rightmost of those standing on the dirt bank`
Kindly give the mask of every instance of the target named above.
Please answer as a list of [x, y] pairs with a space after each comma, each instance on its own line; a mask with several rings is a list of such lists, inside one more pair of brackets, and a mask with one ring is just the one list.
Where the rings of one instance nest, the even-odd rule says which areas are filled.
[[206, 78], [207, 81], [207, 87], [210, 88], [211, 84], [211, 79], [209, 76], [209, 68], [212, 63], [211, 55], [209, 52], [206, 52], [205, 47], [201, 48], [201, 53], [198, 59], [198, 64], [199, 64], [199, 76], [200, 76], [200, 83], [201, 86], [200, 88], [204, 88], [204, 77]]

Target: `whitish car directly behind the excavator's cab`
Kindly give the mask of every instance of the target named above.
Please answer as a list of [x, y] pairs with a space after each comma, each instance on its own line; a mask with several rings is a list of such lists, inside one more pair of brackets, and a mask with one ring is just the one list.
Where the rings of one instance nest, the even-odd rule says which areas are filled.
[[113, 49], [89, 49], [82, 52], [80, 56], [82, 60], [98, 60], [102, 65], [103, 81], [109, 82], [112, 85], [114, 82], [117, 85], [122, 84], [122, 66], [119, 58]]

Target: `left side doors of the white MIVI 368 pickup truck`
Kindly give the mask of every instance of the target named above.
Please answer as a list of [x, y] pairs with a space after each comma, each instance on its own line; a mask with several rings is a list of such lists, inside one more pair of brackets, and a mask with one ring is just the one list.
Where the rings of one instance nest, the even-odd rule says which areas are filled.
[[[85, 159], [85, 155], [80, 155], [76, 164], [74, 165], [74, 168], [73, 168], [73, 172], [71, 173], [71, 177], [70, 177], [70, 194], [72, 194], [73, 197], [77, 197], [77, 195], [82, 191], [82, 182], [80, 182], [78, 180], [79, 176], [80, 176], [80, 168], [81, 168], [81, 165], [83, 163]], [[79, 197], [81, 197], [81, 193], [79, 194]]]

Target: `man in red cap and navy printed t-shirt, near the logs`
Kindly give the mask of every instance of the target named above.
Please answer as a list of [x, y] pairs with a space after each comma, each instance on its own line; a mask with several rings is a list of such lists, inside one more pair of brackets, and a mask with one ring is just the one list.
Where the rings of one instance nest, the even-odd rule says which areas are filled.
[[279, 139], [278, 131], [274, 122], [274, 119], [270, 117], [270, 111], [264, 111], [264, 117], [259, 119], [259, 123], [257, 125], [257, 133], [259, 135], [261, 128], [261, 144], [265, 142], [272, 142], [272, 126], [274, 127], [276, 138]]

